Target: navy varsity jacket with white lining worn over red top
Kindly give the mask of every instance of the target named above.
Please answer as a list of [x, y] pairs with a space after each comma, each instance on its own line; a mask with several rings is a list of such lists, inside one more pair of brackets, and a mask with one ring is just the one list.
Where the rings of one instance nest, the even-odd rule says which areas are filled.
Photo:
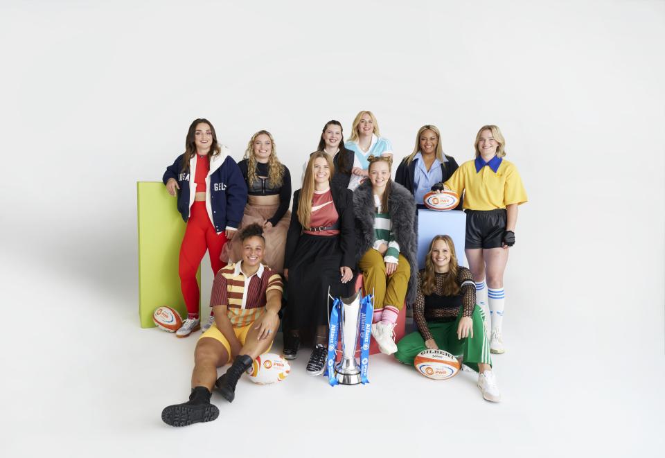
[[[213, 222], [215, 231], [220, 234], [225, 229], [238, 229], [242, 221], [242, 213], [247, 204], [247, 184], [240, 173], [240, 168], [229, 155], [231, 151], [226, 146], [218, 155], [210, 159], [210, 171], [206, 176], [206, 209]], [[170, 178], [178, 182], [178, 211], [182, 219], [187, 222], [194, 197], [196, 195], [197, 155], [189, 160], [189, 170], [182, 172], [184, 154], [179, 155], [173, 165], [166, 168], [161, 181], [166, 184]]]

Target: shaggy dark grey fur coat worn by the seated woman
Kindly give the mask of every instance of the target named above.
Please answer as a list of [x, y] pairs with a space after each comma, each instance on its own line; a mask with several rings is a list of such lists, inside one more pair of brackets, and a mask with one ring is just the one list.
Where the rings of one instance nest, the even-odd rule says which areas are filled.
[[[418, 279], [418, 263], [416, 263], [418, 229], [416, 228], [414, 196], [401, 184], [392, 182], [388, 209], [395, 240], [400, 244], [400, 254], [407, 258], [411, 267], [406, 297], [407, 303], [411, 305], [416, 301], [418, 286], [416, 283]], [[353, 191], [353, 211], [355, 212], [355, 261], [357, 264], [365, 252], [374, 245], [374, 195], [369, 179]]]

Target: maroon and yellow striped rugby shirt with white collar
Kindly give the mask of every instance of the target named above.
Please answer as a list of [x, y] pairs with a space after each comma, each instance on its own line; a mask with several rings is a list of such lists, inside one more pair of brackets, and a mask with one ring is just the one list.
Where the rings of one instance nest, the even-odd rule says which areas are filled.
[[210, 306], [227, 306], [227, 317], [234, 328], [254, 322], [265, 311], [265, 294], [271, 290], [283, 292], [282, 277], [263, 264], [251, 276], [245, 276], [240, 264], [222, 267], [213, 282]]

